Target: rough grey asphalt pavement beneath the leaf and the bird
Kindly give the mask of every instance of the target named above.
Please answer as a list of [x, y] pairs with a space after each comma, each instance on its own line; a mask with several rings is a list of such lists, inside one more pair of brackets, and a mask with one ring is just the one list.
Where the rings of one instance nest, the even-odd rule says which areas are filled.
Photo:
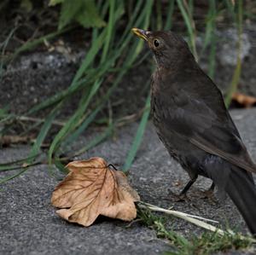
[[[256, 109], [236, 110], [231, 114], [248, 151], [256, 161]], [[136, 130], [137, 124], [118, 130], [113, 139], [91, 149], [79, 159], [100, 156], [121, 168]], [[83, 137], [77, 146], [86, 144], [94, 135], [96, 134]], [[2, 149], [0, 163], [20, 159], [28, 152], [27, 146]], [[59, 182], [53, 176], [54, 172], [48, 165], [38, 165], [1, 185], [0, 254], [141, 255], [161, 254], [172, 250], [168, 241], [157, 238], [154, 230], [141, 223], [133, 223], [128, 227], [128, 223], [105, 218], [89, 228], [67, 223], [55, 214], [55, 208], [49, 202], [51, 193]], [[3, 172], [0, 177], [12, 173], [14, 172]], [[228, 223], [232, 229], [247, 232], [245, 223], [228, 198], [217, 204], [200, 198], [200, 191], [209, 188], [211, 184], [206, 178], [200, 178], [189, 191], [191, 203], [172, 201], [170, 191], [178, 193], [189, 178], [170, 159], [150, 123], [129, 179], [143, 201], [166, 208], [174, 206], [176, 210], [212, 218], [224, 225]], [[201, 233], [201, 229], [178, 219], [170, 219], [169, 227], [187, 236]], [[241, 253], [253, 254], [241, 251], [225, 254]]]

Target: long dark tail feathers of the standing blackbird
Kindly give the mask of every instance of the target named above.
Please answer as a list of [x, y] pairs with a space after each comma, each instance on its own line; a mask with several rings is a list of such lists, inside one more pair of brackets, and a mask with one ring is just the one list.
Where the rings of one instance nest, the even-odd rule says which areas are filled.
[[252, 174], [233, 165], [225, 191], [241, 213], [248, 229], [256, 235], [256, 188]]

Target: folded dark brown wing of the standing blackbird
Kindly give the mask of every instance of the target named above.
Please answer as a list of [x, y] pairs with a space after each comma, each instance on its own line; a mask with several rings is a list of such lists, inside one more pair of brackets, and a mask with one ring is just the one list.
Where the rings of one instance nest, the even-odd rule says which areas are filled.
[[224, 107], [220, 91], [209, 82], [212, 81], [207, 80], [208, 90], [206, 87], [191, 90], [189, 82], [187, 86], [177, 82], [175, 90], [175, 84], [172, 84], [158, 91], [160, 95], [156, 96], [155, 103], [160, 106], [158, 114], [161, 114], [161, 121], [177, 135], [207, 153], [218, 155], [247, 171], [256, 172], [256, 166]]

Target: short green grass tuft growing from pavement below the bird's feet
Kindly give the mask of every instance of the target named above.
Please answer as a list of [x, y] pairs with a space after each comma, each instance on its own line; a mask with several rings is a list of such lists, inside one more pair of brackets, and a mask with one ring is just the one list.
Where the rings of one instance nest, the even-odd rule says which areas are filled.
[[224, 235], [218, 235], [218, 233], [204, 232], [199, 236], [184, 237], [177, 230], [166, 228], [167, 220], [170, 225], [172, 218], [160, 217], [148, 209], [138, 208], [137, 217], [148, 228], [154, 229], [158, 237], [170, 241], [172, 251], [164, 252], [166, 255], [208, 255], [215, 252], [244, 250], [253, 245], [250, 237], [244, 237], [238, 233], [225, 232]]

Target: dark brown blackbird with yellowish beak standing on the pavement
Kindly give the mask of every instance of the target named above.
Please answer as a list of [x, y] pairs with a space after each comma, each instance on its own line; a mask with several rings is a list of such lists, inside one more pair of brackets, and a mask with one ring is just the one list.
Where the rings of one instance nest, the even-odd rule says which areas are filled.
[[[132, 31], [147, 41], [156, 70], [151, 84], [154, 126], [169, 154], [188, 172], [212, 179], [256, 235], [256, 165], [247, 153], [223, 96], [201, 70], [188, 44], [173, 32]], [[214, 187], [212, 184], [212, 188]]]

